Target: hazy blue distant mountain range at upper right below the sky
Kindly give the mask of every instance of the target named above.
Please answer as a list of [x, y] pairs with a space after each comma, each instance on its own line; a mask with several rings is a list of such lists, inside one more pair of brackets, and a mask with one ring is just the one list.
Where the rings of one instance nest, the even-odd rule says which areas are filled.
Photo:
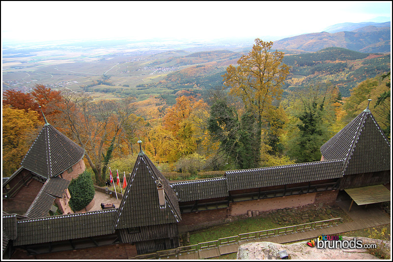
[[302, 34], [275, 41], [273, 49], [291, 51], [289, 53], [305, 53], [316, 52], [327, 47], [342, 47], [362, 53], [388, 53], [391, 52], [390, 24], [390, 22], [337, 24], [328, 28], [331, 32]]

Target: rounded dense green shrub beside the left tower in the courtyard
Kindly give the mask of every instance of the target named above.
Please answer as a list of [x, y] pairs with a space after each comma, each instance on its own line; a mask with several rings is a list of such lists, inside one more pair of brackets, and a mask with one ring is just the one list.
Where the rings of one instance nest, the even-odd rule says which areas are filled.
[[71, 209], [75, 212], [84, 208], [95, 195], [91, 173], [84, 171], [78, 178], [72, 179], [68, 189], [71, 195], [69, 202]]

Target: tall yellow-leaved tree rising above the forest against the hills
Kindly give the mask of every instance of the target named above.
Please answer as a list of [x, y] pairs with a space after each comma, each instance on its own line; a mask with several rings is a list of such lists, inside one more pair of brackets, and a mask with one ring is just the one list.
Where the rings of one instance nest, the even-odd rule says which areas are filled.
[[[289, 67], [282, 62], [283, 52], [272, 52], [273, 42], [264, 42], [255, 39], [253, 49], [248, 55], [237, 61], [237, 66], [229, 65], [226, 68], [224, 85], [229, 87], [229, 94], [240, 97], [245, 106], [248, 118], [247, 125], [254, 125], [253, 144], [261, 145], [262, 128], [269, 130], [273, 126], [269, 120], [275, 119], [273, 115], [279, 116], [278, 104], [281, 99], [282, 85], [289, 74]], [[254, 152], [260, 152], [259, 148], [253, 146]], [[250, 155], [246, 153], [245, 155]], [[253, 162], [257, 165], [260, 160], [259, 154], [252, 154]], [[249, 167], [250, 168], [250, 167]]]

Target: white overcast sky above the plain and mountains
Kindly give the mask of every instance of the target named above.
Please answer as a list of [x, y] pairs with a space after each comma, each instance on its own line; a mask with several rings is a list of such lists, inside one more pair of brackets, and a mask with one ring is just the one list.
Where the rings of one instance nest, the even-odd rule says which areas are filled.
[[391, 10], [390, 1], [1, 1], [1, 39], [277, 40], [339, 23], [391, 18]]

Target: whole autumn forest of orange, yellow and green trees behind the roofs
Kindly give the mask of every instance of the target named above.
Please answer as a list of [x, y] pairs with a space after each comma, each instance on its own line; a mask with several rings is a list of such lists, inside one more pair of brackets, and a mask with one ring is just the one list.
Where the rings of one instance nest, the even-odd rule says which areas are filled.
[[[45, 83], [36, 84], [31, 92], [7, 89], [2, 105], [3, 176], [19, 168], [45, 123], [44, 116], [85, 149], [86, 167], [101, 186], [109, 177], [109, 167], [121, 174], [132, 171], [139, 140], [169, 180], [319, 161], [320, 146], [368, 103], [390, 140], [390, 71], [381, 69], [371, 77], [367, 73], [376, 59], [381, 62], [385, 57], [374, 55], [372, 60], [369, 54], [332, 48], [284, 56], [272, 46], [273, 42], [255, 39], [251, 51], [241, 57], [233, 52], [210, 53], [236, 60], [224, 72], [209, 64], [197, 65], [168, 74], [161, 83], [139, 87], [141, 92], [143, 88], [169, 88], [193, 76], [196, 89], [202, 81], [214, 83], [203, 92], [183, 88], [170, 97], [162, 92], [139, 99], [123, 93], [116, 99], [97, 100], [88, 92], [57, 91]], [[333, 59], [332, 52], [341, 57]], [[205, 55], [199, 53], [200, 63], [209, 62]], [[351, 62], [366, 57], [369, 64], [364, 63], [363, 70]], [[187, 57], [176, 59], [188, 64]], [[209, 71], [210, 79], [195, 78], [196, 72], [205, 76], [203, 70]], [[337, 81], [317, 73], [325, 71], [353, 76]], [[100, 81], [94, 86], [110, 85], [105, 74]], [[349, 86], [345, 91], [344, 85]]]

